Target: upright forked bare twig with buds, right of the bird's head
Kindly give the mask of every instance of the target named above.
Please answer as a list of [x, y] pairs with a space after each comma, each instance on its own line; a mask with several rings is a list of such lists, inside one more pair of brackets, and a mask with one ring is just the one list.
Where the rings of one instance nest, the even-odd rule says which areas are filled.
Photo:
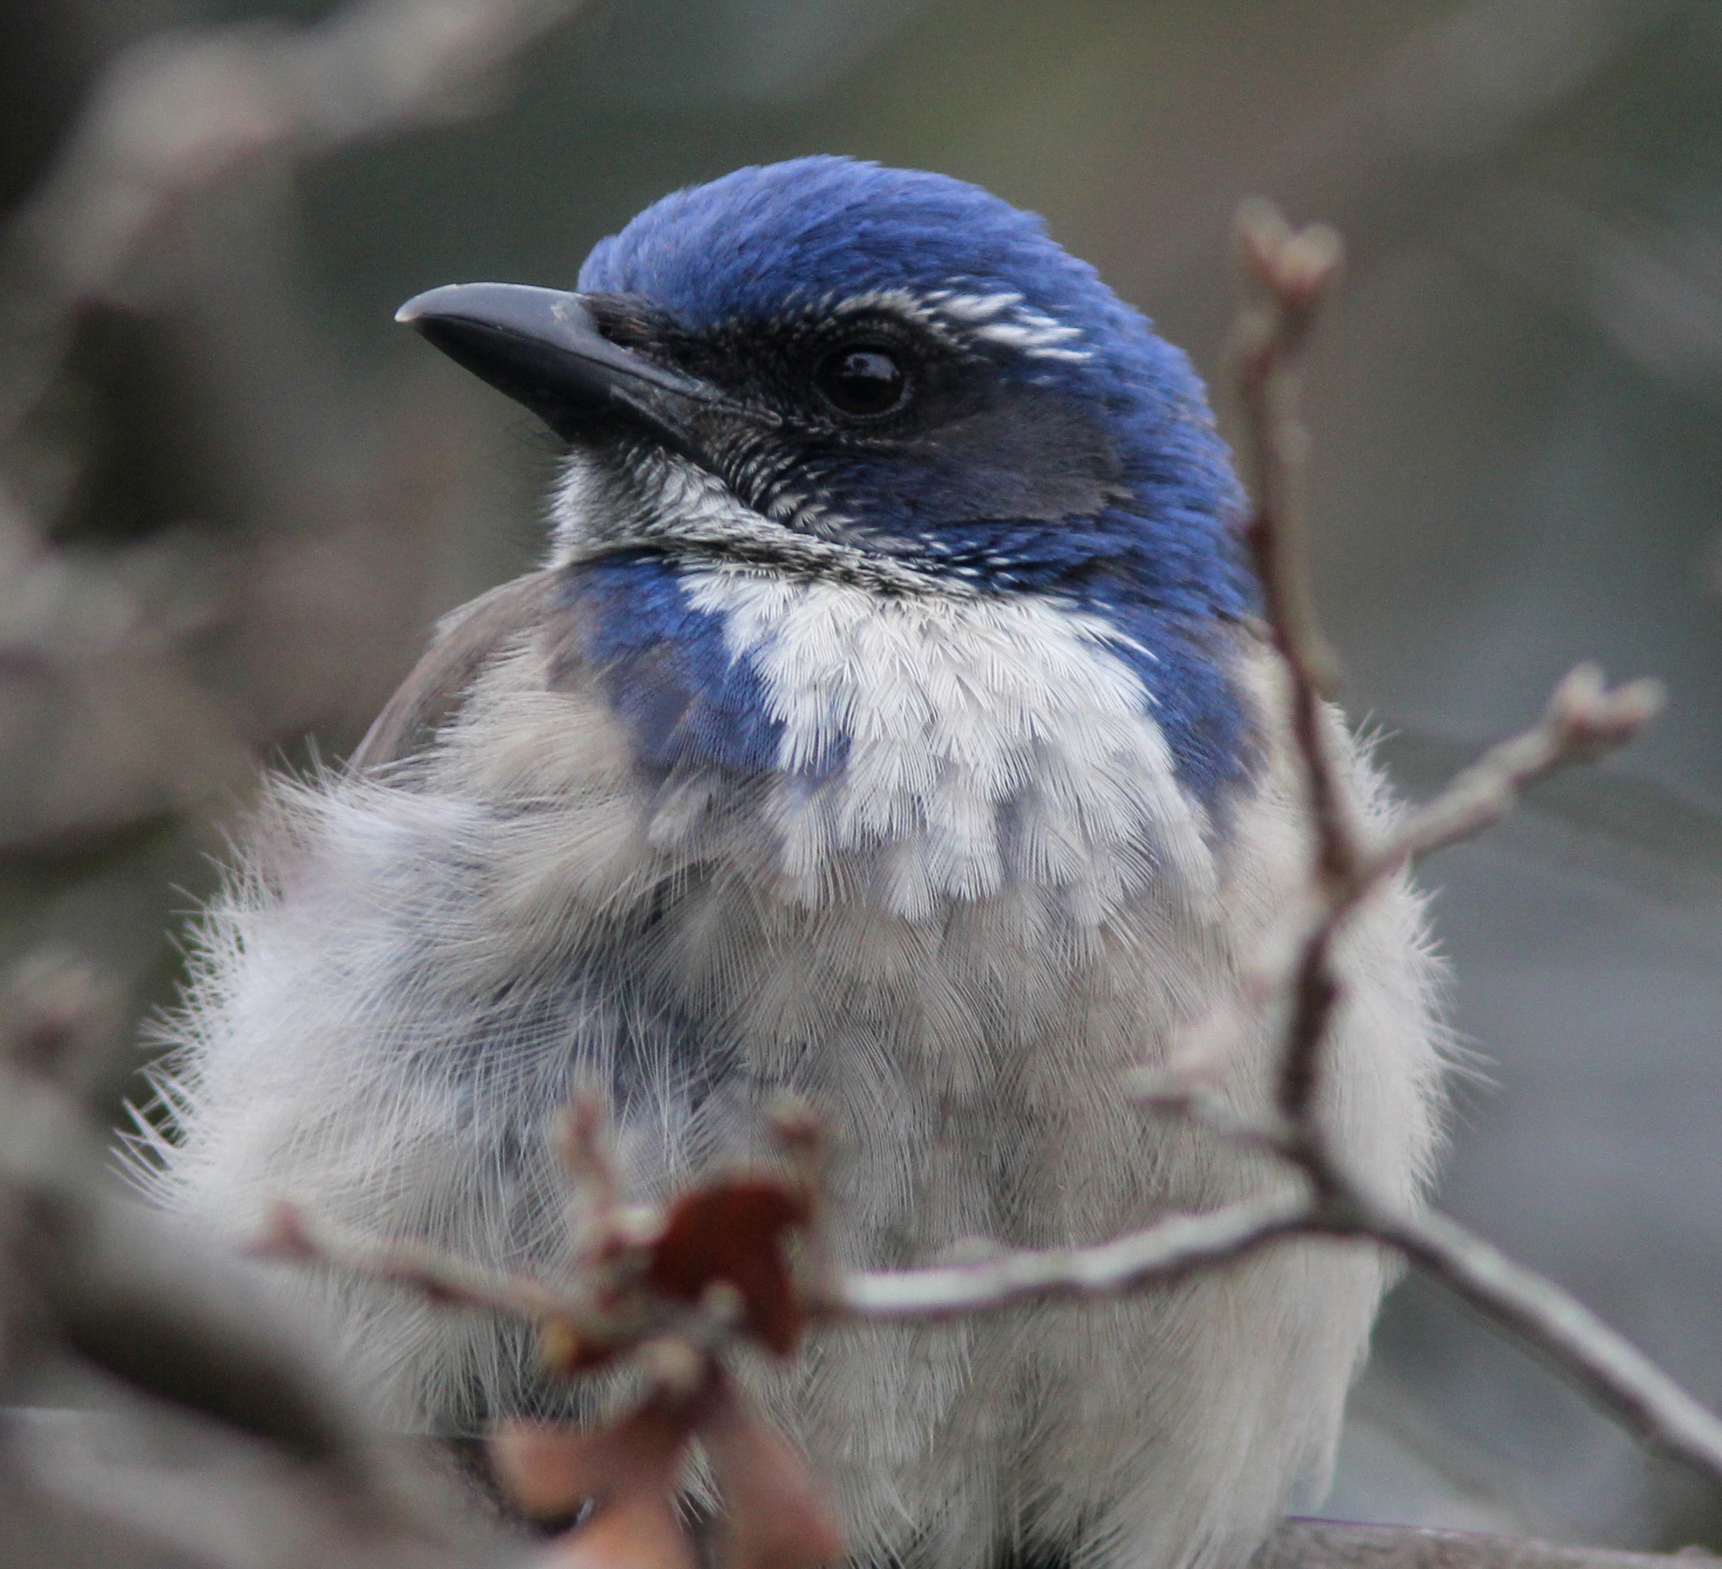
[[[1300, 518], [1292, 505], [1304, 443], [1292, 367], [1335, 276], [1338, 248], [1326, 231], [1293, 234], [1264, 203], [1240, 212], [1238, 233], [1245, 265], [1266, 296], [1245, 315], [1235, 362], [1259, 487], [1248, 537], [1273, 641], [1286, 665], [1293, 746], [1309, 780], [1317, 909], [1288, 975], [1293, 1006], [1278, 1090], [1286, 1126], [1240, 1132], [1276, 1145], [1304, 1169], [1316, 1194], [1314, 1212], [1329, 1230], [1397, 1247], [1424, 1273], [1521, 1333], [1641, 1436], [1722, 1481], [1722, 1421], [1648, 1357], [1553, 1281], [1512, 1262], [1457, 1221], [1364, 1192], [1322, 1138], [1316, 1095], [1340, 995], [1331, 954], [1348, 916], [1412, 858], [1505, 816], [1527, 785], [1629, 741], [1662, 706], [1662, 687], [1639, 680], [1608, 691], [1595, 667], [1581, 665], [1557, 687], [1536, 725], [1491, 747], [1384, 846], [1371, 851], [1362, 842], [1322, 729], [1319, 677], [1326, 667], [1304, 584]], [[1181, 1109], [1200, 1114], [1205, 1102], [1190, 1095]]]

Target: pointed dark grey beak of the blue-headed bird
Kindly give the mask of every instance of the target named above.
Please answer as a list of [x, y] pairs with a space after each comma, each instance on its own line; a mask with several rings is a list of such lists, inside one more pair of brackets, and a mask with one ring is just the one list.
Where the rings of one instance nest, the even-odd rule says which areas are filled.
[[716, 388], [611, 343], [585, 301], [561, 289], [444, 284], [413, 295], [394, 320], [417, 327], [565, 441], [620, 420], [687, 451], [697, 408], [728, 401]]

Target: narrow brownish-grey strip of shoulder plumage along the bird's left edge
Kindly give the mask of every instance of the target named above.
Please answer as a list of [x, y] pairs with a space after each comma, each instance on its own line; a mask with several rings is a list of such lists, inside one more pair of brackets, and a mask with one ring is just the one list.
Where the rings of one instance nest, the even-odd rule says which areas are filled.
[[353, 772], [382, 768], [417, 751], [455, 711], [486, 660], [542, 623], [556, 579], [551, 568], [529, 572], [446, 615], [424, 658], [365, 732], [350, 760]]

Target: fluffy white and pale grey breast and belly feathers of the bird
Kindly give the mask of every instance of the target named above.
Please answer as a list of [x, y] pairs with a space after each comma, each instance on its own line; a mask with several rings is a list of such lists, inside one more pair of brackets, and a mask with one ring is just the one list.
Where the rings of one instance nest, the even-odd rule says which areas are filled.
[[[284, 787], [176, 1025], [158, 1190], [234, 1233], [284, 1194], [542, 1266], [561, 1233], [544, 1130], [577, 1078], [610, 1088], [642, 1190], [754, 1149], [761, 1101], [804, 1090], [842, 1149], [854, 1264], [1099, 1240], [1273, 1180], [1119, 1090], [1302, 875], [1271, 727], [1216, 823], [1097, 623], [725, 568], [691, 594], [753, 661], [777, 766], [644, 772], [603, 672], [551, 679], [523, 636], [422, 756]], [[1383, 899], [1347, 959], [1328, 1114], [1410, 1192], [1436, 1075], [1415, 899]], [[1269, 1068], [1264, 1037], [1240, 1104]], [[1379, 1288], [1372, 1252], [1295, 1243], [1099, 1309], [840, 1330], [761, 1378], [861, 1555], [980, 1566], [1044, 1540], [1176, 1569], [1319, 1478]], [[561, 1398], [522, 1335], [325, 1290], [398, 1417]]]

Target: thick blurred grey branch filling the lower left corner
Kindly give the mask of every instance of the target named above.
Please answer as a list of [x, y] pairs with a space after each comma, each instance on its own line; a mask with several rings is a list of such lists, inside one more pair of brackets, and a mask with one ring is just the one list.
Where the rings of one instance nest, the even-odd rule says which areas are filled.
[[[40, 959], [0, 990], [0, 1385], [69, 1364], [129, 1392], [90, 1416], [0, 1411], [7, 1564], [239, 1562], [231, 1543], [210, 1547], [238, 1491], [257, 1522], [300, 1536], [267, 1562], [453, 1569], [408, 1476], [231, 1261], [108, 1188], [67, 1083], [108, 1014], [100, 978], [69, 961]], [[98, 1442], [79, 1442], [79, 1423], [102, 1423]], [[189, 1447], [200, 1464], [152, 1486], [152, 1447]]]

